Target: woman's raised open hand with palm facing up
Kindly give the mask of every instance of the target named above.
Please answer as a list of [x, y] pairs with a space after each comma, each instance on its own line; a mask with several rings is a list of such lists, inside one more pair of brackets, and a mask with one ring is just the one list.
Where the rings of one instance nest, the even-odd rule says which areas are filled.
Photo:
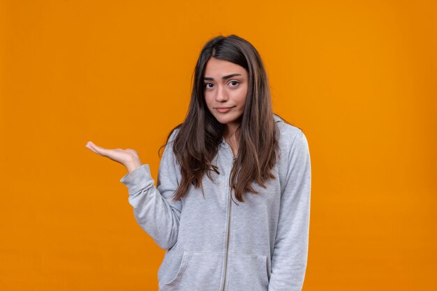
[[88, 148], [92, 152], [96, 152], [97, 155], [108, 157], [109, 159], [112, 159], [112, 161], [126, 166], [129, 173], [142, 165], [140, 157], [138, 156], [138, 152], [136, 150], [132, 150], [131, 148], [127, 148], [126, 150], [115, 148], [112, 150], [96, 146], [92, 141], [88, 141], [87, 145], [85, 145], [85, 148]]

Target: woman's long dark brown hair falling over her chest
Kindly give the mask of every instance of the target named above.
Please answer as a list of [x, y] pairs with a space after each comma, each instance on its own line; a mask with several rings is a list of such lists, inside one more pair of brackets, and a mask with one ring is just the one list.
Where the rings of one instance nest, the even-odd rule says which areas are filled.
[[273, 118], [269, 81], [261, 57], [253, 45], [235, 35], [217, 36], [209, 40], [195, 65], [188, 113], [184, 123], [175, 127], [179, 132], [172, 145], [182, 174], [173, 200], [183, 198], [190, 185], [200, 187], [205, 195], [203, 176], [206, 174], [212, 179], [212, 171], [220, 174], [212, 160], [223, 140], [225, 125], [218, 123], [207, 109], [203, 81], [206, 63], [212, 57], [242, 66], [249, 76], [246, 107], [236, 132], [238, 158], [230, 175], [230, 187], [235, 197], [244, 202], [245, 192], [258, 193], [253, 189], [252, 182], [265, 188], [265, 182], [274, 179], [272, 168], [279, 154], [279, 129]]

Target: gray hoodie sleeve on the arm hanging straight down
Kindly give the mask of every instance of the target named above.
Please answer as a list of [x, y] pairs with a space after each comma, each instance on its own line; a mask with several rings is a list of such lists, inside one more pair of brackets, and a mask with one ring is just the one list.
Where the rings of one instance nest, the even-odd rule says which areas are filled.
[[288, 154], [288, 173], [272, 255], [269, 291], [302, 290], [309, 245], [311, 161], [306, 136], [297, 133]]

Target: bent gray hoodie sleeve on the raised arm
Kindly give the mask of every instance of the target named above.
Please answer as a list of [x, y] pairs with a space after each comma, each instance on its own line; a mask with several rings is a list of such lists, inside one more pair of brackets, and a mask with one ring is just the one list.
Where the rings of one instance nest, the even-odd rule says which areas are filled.
[[129, 203], [141, 228], [148, 233], [162, 249], [170, 249], [177, 242], [182, 200], [172, 201], [179, 185], [179, 166], [172, 150], [172, 140], [165, 146], [159, 166], [157, 187], [151, 178], [148, 164], [143, 164], [127, 173], [120, 182], [128, 187]]

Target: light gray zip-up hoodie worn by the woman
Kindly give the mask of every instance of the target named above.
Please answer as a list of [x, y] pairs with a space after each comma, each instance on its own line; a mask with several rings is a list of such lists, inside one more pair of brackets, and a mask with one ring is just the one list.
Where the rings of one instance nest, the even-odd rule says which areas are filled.
[[[302, 290], [308, 243], [311, 162], [301, 129], [274, 116], [281, 155], [275, 180], [240, 203], [230, 195], [232, 150], [223, 140], [213, 164], [220, 174], [173, 202], [181, 180], [172, 143], [164, 150], [157, 187], [144, 164], [121, 178], [128, 187], [135, 219], [162, 249], [159, 290]], [[170, 136], [175, 138], [177, 130]], [[232, 192], [232, 193], [231, 193]]]

